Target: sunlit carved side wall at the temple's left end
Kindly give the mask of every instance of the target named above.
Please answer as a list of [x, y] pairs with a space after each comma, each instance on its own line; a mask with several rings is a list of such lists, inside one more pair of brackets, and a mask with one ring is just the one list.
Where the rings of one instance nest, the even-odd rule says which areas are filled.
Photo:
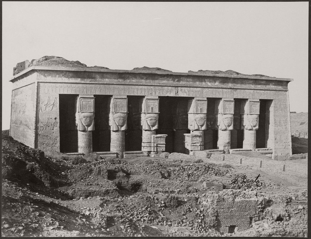
[[28, 74], [21, 81], [13, 83], [10, 136], [35, 148], [37, 74]]

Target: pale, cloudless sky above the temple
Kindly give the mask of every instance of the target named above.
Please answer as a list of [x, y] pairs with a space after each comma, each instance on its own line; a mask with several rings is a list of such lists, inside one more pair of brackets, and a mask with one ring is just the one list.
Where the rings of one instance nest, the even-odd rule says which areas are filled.
[[13, 67], [45, 55], [293, 78], [290, 111], [308, 112], [308, 10], [308, 2], [2, 2], [2, 130]]

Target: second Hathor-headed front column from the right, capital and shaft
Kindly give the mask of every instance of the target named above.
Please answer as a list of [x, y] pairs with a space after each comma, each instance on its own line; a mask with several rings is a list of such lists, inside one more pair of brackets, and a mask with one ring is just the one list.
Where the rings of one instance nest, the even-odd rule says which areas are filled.
[[231, 146], [230, 130], [233, 129], [234, 100], [222, 98], [215, 101], [215, 115], [217, 117], [218, 141], [217, 148], [229, 153]]

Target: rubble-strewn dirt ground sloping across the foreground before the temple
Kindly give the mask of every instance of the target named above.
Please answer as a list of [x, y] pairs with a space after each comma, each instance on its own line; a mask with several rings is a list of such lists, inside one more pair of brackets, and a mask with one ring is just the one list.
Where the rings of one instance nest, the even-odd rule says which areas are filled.
[[[2, 135], [2, 236], [307, 237], [307, 188], [260, 173], [260, 184], [230, 189], [237, 175], [258, 172], [176, 153], [122, 160], [48, 155]], [[266, 198], [263, 219], [246, 231], [217, 231], [203, 204], [223, 190]]]

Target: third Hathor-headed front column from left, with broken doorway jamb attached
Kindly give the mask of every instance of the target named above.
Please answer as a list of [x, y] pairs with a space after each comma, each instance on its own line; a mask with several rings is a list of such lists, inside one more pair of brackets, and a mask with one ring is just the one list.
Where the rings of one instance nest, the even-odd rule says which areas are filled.
[[167, 134], [156, 135], [159, 128], [159, 97], [145, 96], [140, 100], [139, 108], [142, 126], [142, 151], [165, 151]]

